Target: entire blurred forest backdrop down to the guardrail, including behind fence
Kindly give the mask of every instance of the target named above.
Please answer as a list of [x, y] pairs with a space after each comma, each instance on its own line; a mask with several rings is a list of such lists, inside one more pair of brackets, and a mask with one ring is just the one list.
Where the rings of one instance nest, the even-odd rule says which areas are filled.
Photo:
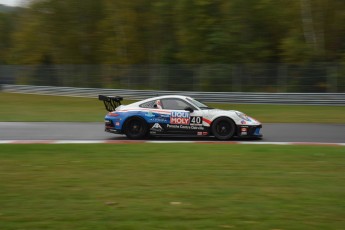
[[344, 92], [344, 12], [344, 0], [28, 1], [0, 13], [0, 74], [17, 84]]

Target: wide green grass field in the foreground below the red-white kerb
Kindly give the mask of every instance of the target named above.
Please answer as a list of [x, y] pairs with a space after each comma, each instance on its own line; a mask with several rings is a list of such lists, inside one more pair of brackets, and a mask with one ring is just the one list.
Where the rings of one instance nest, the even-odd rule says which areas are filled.
[[1, 229], [343, 229], [345, 148], [1, 145]]

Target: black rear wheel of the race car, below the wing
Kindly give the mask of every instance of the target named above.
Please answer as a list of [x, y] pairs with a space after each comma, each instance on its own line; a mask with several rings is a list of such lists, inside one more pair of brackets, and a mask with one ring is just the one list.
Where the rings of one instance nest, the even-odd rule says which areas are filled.
[[145, 120], [139, 117], [130, 118], [125, 125], [124, 133], [129, 139], [139, 140], [148, 136], [149, 127]]

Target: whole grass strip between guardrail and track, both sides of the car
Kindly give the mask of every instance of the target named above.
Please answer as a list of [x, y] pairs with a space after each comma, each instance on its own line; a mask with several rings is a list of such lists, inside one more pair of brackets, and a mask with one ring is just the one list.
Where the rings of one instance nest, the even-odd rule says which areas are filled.
[[[345, 123], [345, 106], [210, 106], [239, 110], [263, 123]], [[0, 93], [0, 121], [103, 121], [105, 114], [102, 102], [96, 98]]]

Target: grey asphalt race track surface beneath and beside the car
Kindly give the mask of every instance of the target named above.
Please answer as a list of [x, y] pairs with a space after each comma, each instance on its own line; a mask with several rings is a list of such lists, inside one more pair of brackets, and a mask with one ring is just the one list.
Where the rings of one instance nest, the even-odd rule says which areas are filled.
[[[126, 140], [123, 135], [106, 133], [103, 129], [101, 122], [0, 122], [0, 140]], [[265, 142], [345, 143], [345, 124], [270, 123], [263, 124], [262, 133]], [[215, 140], [211, 137], [151, 139]]]

